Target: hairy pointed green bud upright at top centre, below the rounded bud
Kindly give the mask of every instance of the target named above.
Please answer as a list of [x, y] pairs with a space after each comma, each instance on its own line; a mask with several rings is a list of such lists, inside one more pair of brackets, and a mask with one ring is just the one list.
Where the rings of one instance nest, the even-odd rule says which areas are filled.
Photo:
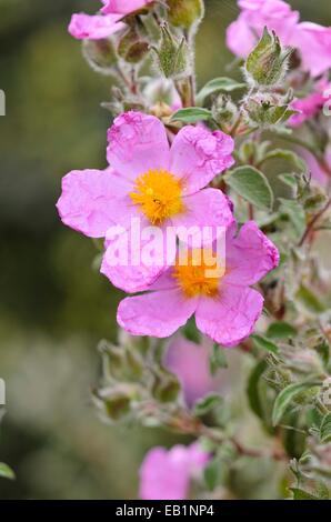
[[152, 48], [157, 54], [158, 66], [165, 78], [178, 79], [188, 74], [189, 48], [184, 38], [178, 40], [168, 26], [161, 27], [160, 47]]

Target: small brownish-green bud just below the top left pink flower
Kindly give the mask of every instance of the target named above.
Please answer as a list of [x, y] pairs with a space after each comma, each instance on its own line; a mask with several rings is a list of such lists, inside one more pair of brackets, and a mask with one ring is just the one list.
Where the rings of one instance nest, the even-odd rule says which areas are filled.
[[94, 71], [106, 76], [112, 73], [112, 68], [117, 63], [117, 53], [111, 40], [83, 40], [82, 53]]

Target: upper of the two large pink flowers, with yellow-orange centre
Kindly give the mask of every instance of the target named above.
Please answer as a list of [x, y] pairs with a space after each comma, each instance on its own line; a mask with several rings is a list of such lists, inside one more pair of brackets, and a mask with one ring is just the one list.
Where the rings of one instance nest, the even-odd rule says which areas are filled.
[[[122, 290], [138, 292], [164, 271], [168, 254], [148, 267], [113, 265], [109, 261], [113, 238], [108, 230], [119, 225], [132, 238], [132, 218], [141, 230], [150, 225], [162, 231], [167, 227], [209, 227], [211, 231], [229, 227], [233, 215], [227, 197], [204, 187], [233, 164], [234, 143], [223, 132], [188, 126], [170, 147], [158, 118], [133, 111], [114, 120], [108, 139], [108, 160], [114, 170], [70, 172], [63, 178], [57, 207], [68, 227], [91, 238], [107, 237], [102, 273]], [[211, 242], [212, 235], [205, 241]], [[133, 243], [128, 245], [130, 254], [140, 255], [141, 243]], [[174, 257], [175, 251], [172, 261]]]

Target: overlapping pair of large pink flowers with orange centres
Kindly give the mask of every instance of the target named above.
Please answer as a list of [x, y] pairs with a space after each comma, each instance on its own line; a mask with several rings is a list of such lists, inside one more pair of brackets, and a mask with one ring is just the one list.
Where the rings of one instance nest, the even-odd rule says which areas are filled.
[[[228, 198], [205, 188], [233, 164], [232, 138], [187, 126], [170, 147], [160, 120], [131, 111], [114, 120], [108, 139], [111, 167], [67, 174], [57, 207], [67, 225], [106, 238], [101, 272], [114, 285], [129, 293], [146, 291], [120, 303], [119, 324], [134, 335], [165, 338], [195, 314], [201, 332], [223, 345], [238, 344], [251, 334], [263, 307], [262, 295], [250, 287], [278, 265], [279, 253], [254, 222], [237, 233]], [[171, 263], [167, 257], [151, 265], [111, 264], [108, 232], [114, 225], [130, 232], [132, 218], [162, 233], [169, 225], [228, 230], [225, 271], [207, 278], [205, 265], [193, 262], [197, 251], [213, 250], [213, 234], [205, 243], [187, 243], [187, 265], [178, 264], [175, 251]], [[137, 247], [132, 242], [128, 248]]]

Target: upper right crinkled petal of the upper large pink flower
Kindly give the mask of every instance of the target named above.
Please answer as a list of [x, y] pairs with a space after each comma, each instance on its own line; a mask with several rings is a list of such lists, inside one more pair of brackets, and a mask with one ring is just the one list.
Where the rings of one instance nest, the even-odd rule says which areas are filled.
[[182, 179], [183, 192], [192, 194], [233, 165], [233, 139], [224, 132], [187, 126], [172, 142], [170, 171]]

